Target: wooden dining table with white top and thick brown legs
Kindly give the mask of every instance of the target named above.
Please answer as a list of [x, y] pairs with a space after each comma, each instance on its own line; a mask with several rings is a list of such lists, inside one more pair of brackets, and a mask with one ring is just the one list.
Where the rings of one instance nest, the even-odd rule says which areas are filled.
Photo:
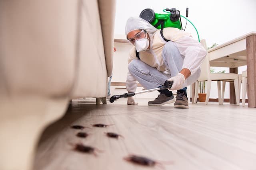
[[[256, 107], [256, 31], [242, 35], [208, 50], [210, 66], [229, 67], [237, 73], [238, 66], [247, 65], [248, 107]], [[230, 86], [230, 102], [235, 103], [234, 87]]]

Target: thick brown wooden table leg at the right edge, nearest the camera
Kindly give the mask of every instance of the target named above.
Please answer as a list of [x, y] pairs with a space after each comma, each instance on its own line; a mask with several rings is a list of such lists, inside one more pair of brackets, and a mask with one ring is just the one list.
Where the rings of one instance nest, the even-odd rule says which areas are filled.
[[256, 107], [256, 35], [246, 37], [248, 107]]

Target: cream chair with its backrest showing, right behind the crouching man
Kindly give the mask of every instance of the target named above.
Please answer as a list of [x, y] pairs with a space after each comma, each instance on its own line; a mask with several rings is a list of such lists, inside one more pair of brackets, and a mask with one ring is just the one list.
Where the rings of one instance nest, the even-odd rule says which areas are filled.
[[[201, 40], [202, 45], [204, 46], [205, 49], [206, 47], [206, 41], [203, 39]], [[195, 95], [194, 95], [194, 104], [197, 102], [197, 96], [198, 96], [198, 88], [199, 88], [199, 82], [200, 81], [207, 81], [207, 86], [206, 86], [206, 100], [205, 104], [208, 104], [209, 97], [210, 97], [210, 90], [211, 90], [211, 83], [212, 81], [217, 81], [218, 85], [218, 102], [219, 104], [222, 104], [221, 102], [221, 88], [220, 88], [220, 81], [222, 81], [222, 89], [223, 89], [223, 84], [225, 82], [234, 82], [234, 87], [235, 87], [235, 94], [236, 94], [236, 105], [239, 105], [239, 92], [238, 92], [238, 74], [235, 73], [210, 73], [210, 61], [208, 57], [208, 52], [207, 55], [201, 64], [201, 74], [198, 80], [195, 83]], [[223, 90], [222, 90], [223, 91]], [[224, 93], [223, 93], [224, 94]]]

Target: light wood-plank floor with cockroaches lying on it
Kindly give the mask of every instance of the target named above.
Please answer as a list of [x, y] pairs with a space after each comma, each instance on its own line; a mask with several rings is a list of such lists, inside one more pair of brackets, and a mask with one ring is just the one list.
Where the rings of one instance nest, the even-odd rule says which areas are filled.
[[[256, 109], [209, 103], [191, 104], [189, 109], [126, 105], [126, 99], [96, 106], [73, 102], [66, 115], [43, 133], [36, 152], [34, 170], [256, 170]], [[92, 124], [114, 124], [107, 128]], [[81, 139], [70, 125], [92, 127]], [[112, 139], [104, 132], [124, 136]], [[69, 143], [83, 143], [104, 152], [98, 156], [72, 150]], [[123, 158], [147, 156], [172, 164], [145, 167]]]

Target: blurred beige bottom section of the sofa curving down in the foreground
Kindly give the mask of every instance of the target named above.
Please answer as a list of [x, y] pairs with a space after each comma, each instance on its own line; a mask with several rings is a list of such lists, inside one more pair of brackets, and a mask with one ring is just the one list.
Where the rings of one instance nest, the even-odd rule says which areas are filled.
[[0, 98], [1, 170], [32, 169], [42, 131], [64, 115], [68, 101], [32, 96]]

